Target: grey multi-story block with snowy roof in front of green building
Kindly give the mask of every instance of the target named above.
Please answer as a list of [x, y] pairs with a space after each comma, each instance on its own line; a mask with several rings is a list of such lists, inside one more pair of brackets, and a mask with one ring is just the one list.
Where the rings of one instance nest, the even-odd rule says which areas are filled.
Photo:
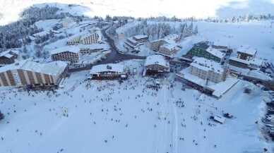
[[230, 69], [228, 66], [225, 68], [215, 61], [197, 58], [191, 64], [189, 68], [189, 73], [198, 76], [203, 80], [210, 80], [213, 82], [224, 81], [229, 73]]

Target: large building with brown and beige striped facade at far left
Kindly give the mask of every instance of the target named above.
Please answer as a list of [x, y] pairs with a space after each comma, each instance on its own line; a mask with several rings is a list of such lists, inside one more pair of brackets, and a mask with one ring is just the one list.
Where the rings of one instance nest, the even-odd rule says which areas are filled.
[[67, 63], [63, 61], [45, 64], [25, 59], [0, 68], [0, 86], [58, 87], [66, 71]]

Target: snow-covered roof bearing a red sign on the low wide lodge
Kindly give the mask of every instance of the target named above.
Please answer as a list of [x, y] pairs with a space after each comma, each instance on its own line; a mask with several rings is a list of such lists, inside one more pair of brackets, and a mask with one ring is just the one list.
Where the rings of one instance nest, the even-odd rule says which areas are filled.
[[90, 70], [90, 74], [93, 73], [100, 73], [100, 72], [106, 72], [106, 71], [113, 71], [113, 72], [124, 72], [124, 65], [119, 63], [108, 63], [108, 64], [101, 64], [97, 66], [93, 66]]

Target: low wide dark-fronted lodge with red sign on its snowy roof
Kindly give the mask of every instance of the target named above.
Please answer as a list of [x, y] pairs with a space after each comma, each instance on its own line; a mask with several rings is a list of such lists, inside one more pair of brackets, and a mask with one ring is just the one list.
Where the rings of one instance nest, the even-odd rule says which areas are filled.
[[97, 65], [90, 70], [90, 78], [93, 80], [125, 80], [127, 75], [124, 65], [119, 63]]

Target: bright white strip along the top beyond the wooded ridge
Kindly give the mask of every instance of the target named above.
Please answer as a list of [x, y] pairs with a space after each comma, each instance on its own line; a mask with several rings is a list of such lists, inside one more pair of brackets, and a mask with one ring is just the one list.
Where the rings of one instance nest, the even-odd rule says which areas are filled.
[[[99, 0], [99, 1], [73, 1], [73, 0], [24, 0], [0, 2], [1, 9], [0, 25], [6, 25], [12, 21], [18, 20], [18, 13], [24, 8], [35, 4], [56, 3], [64, 12], [84, 16], [133, 16], [133, 17], [150, 17], [150, 16], [177, 16], [178, 18], [196, 18], [219, 17], [232, 18], [232, 16], [246, 16], [248, 13], [256, 14], [273, 14], [273, 0], [221, 0], [221, 1], [129, 1], [129, 0]], [[73, 9], [62, 4], [78, 4]], [[49, 4], [50, 5], [50, 4]], [[55, 5], [55, 4], [54, 4]], [[5, 6], [5, 7], [4, 7]], [[36, 5], [35, 5], [36, 6]], [[12, 11], [11, 11], [12, 10]]]

